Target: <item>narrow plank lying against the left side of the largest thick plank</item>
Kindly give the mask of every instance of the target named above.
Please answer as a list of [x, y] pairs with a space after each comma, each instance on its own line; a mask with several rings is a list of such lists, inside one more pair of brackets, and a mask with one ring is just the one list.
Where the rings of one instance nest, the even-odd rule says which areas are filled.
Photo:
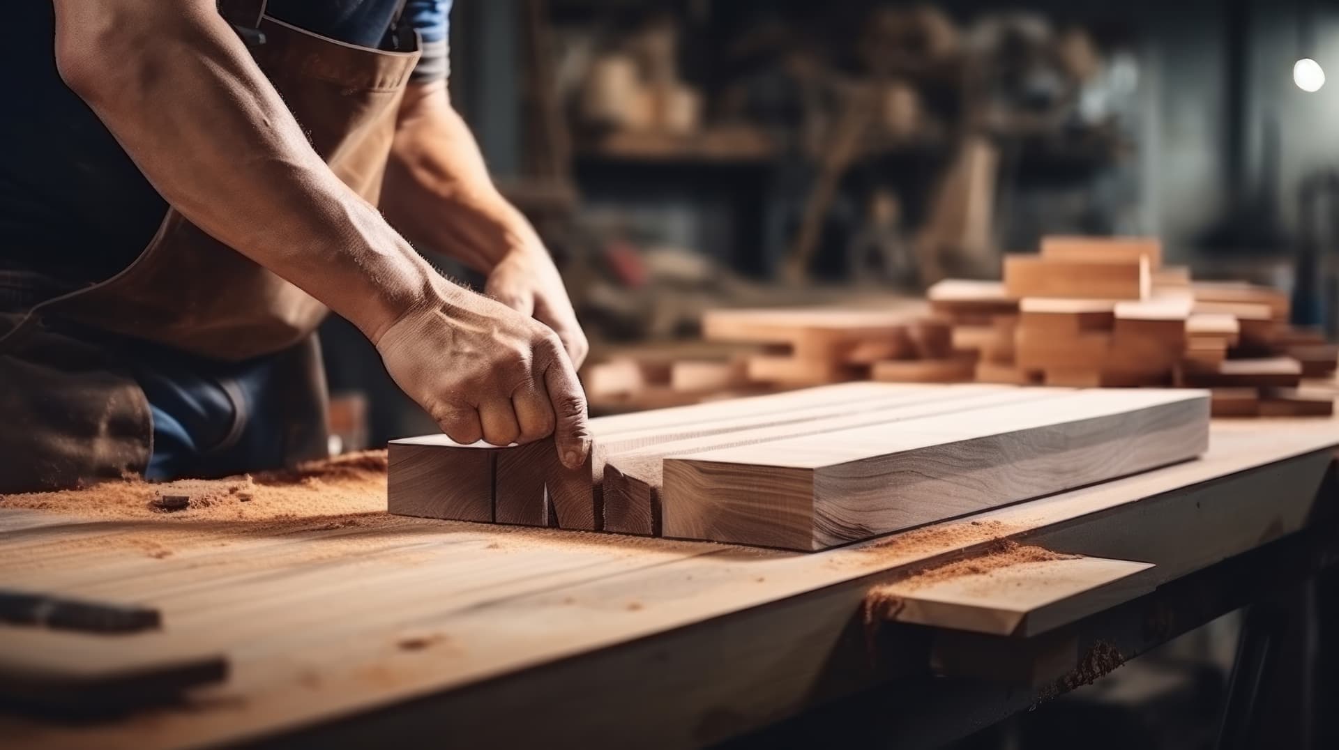
[[607, 532], [643, 536], [660, 533], [660, 496], [664, 487], [663, 469], [667, 457], [758, 445], [803, 435], [819, 435], [869, 425], [890, 425], [933, 414], [949, 414], [999, 403], [1036, 400], [1054, 395], [1055, 391], [1042, 388], [1023, 391], [960, 386], [925, 395], [908, 396], [897, 402], [876, 402], [856, 412], [833, 414], [810, 422], [690, 438], [641, 450], [619, 453], [608, 457], [605, 462], [604, 529]]

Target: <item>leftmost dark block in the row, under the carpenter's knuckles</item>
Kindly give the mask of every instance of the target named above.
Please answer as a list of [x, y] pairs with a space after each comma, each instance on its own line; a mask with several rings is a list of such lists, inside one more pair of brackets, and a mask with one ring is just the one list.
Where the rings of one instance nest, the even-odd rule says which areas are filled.
[[498, 447], [462, 446], [446, 435], [391, 441], [386, 509], [396, 516], [493, 521]]

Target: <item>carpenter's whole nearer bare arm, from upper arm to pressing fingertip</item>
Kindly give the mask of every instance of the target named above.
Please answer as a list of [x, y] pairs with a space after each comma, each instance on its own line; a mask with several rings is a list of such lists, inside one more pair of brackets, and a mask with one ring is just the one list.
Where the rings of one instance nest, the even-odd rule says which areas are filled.
[[454, 439], [557, 425], [562, 458], [584, 458], [584, 399], [553, 335], [441, 279], [344, 186], [212, 0], [54, 3], [62, 76], [167, 202], [349, 319]]

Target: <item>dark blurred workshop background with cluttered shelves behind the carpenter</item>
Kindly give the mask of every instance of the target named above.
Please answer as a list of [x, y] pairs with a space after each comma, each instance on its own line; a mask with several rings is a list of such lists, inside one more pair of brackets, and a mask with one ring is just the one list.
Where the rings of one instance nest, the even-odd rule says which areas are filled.
[[[1158, 237], [1166, 264], [1277, 288], [1335, 333], [1331, 3], [462, 0], [451, 66], [592, 339], [593, 412], [695, 398], [625, 355], [727, 356], [707, 309], [882, 309], [999, 279], [1047, 234]], [[341, 447], [435, 431], [348, 324], [323, 339]], [[719, 378], [695, 372], [674, 376]], [[964, 746], [1206, 746], [1236, 627]]]

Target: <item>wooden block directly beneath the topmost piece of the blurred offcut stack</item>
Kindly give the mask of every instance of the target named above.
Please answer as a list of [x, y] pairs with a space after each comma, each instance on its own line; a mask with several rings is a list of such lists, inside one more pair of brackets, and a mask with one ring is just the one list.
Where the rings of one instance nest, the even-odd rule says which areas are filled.
[[1006, 256], [1004, 288], [1015, 297], [1142, 300], [1150, 293], [1148, 258], [1085, 262]]

